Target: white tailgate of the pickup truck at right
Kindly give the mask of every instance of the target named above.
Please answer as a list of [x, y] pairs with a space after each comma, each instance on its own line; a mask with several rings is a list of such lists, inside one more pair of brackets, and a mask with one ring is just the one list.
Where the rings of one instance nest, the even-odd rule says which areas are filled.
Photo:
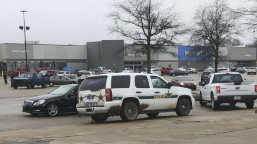
[[255, 94], [255, 82], [220, 83], [221, 96], [240, 96]]

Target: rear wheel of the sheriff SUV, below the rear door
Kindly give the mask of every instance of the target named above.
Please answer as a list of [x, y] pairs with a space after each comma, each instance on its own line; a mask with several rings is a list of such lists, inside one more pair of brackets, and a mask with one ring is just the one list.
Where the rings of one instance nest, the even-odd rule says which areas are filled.
[[121, 119], [124, 121], [134, 121], [138, 116], [138, 107], [134, 102], [127, 102], [121, 109]]

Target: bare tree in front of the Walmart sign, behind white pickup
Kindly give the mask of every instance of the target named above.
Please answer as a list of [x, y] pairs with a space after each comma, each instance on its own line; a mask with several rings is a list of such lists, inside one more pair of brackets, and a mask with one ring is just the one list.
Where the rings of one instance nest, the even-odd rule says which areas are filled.
[[196, 10], [190, 41], [203, 43], [206, 40], [210, 44], [208, 50], [214, 57], [215, 72], [218, 69], [219, 47], [226, 38], [241, 33], [237, 26], [238, 18], [239, 14], [233, 13], [225, 0], [214, 0]]

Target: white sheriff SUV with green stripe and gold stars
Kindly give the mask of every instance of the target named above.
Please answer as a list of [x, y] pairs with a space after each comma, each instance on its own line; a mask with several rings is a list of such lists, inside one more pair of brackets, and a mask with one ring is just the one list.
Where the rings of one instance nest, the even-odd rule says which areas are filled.
[[186, 116], [194, 102], [190, 89], [171, 87], [158, 75], [111, 73], [85, 78], [78, 92], [77, 111], [95, 122], [104, 122], [109, 116], [133, 121], [138, 114], [156, 117], [160, 112], [175, 111]]

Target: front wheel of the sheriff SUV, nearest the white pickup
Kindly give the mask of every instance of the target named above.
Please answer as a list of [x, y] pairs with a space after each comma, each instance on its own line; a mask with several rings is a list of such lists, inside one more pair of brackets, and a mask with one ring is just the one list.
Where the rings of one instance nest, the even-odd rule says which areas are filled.
[[187, 116], [190, 112], [191, 106], [189, 100], [185, 98], [181, 98], [178, 101], [177, 107], [176, 107], [176, 114], [178, 116]]

